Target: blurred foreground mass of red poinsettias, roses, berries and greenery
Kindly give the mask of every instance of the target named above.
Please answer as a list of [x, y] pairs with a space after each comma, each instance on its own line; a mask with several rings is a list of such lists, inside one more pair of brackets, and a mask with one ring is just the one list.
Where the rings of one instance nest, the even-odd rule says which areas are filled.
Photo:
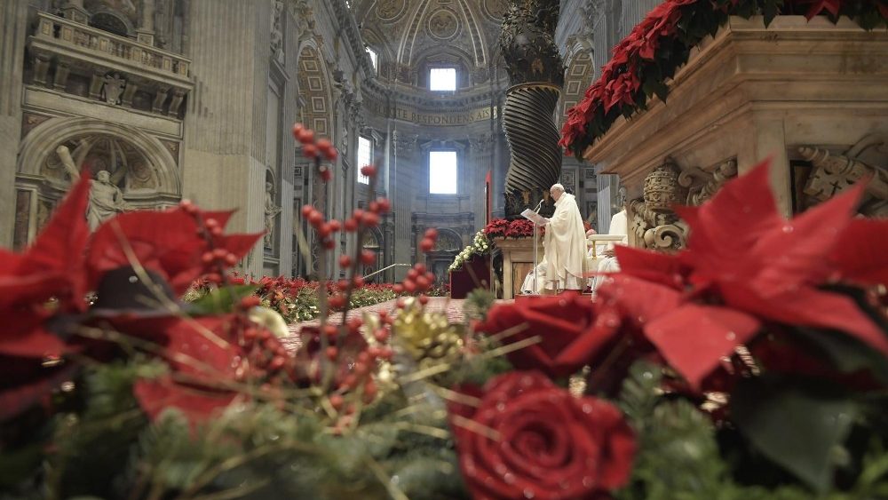
[[[329, 181], [318, 157], [335, 150], [309, 132], [294, 135], [313, 147], [316, 182]], [[852, 217], [862, 187], [785, 220], [766, 169], [680, 210], [687, 250], [618, 250], [623, 271], [595, 301], [488, 308], [489, 292], [475, 291], [469, 320], [455, 323], [426, 309], [434, 276], [416, 265], [396, 291], [411, 297], [339, 324], [329, 312], [347, 313], [362, 284], [344, 265], [345, 287], [318, 282], [319, 325], [285, 339], [253, 285], [226, 274], [260, 234], [224, 234], [230, 213], [185, 202], [90, 235], [83, 176], [34, 245], [3, 250], [0, 487], [103, 498], [884, 497], [888, 239], [878, 236], [888, 222]], [[372, 192], [376, 171], [362, 172]], [[304, 215], [335, 243], [385, 207], [341, 223]], [[727, 237], [736, 226], [746, 231]], [[436, 238], [428, 230], [423, 249]], [[361, 249], [340, 264], [359, 259]], [[179, 303], [201, 278], [217, 290]]]

